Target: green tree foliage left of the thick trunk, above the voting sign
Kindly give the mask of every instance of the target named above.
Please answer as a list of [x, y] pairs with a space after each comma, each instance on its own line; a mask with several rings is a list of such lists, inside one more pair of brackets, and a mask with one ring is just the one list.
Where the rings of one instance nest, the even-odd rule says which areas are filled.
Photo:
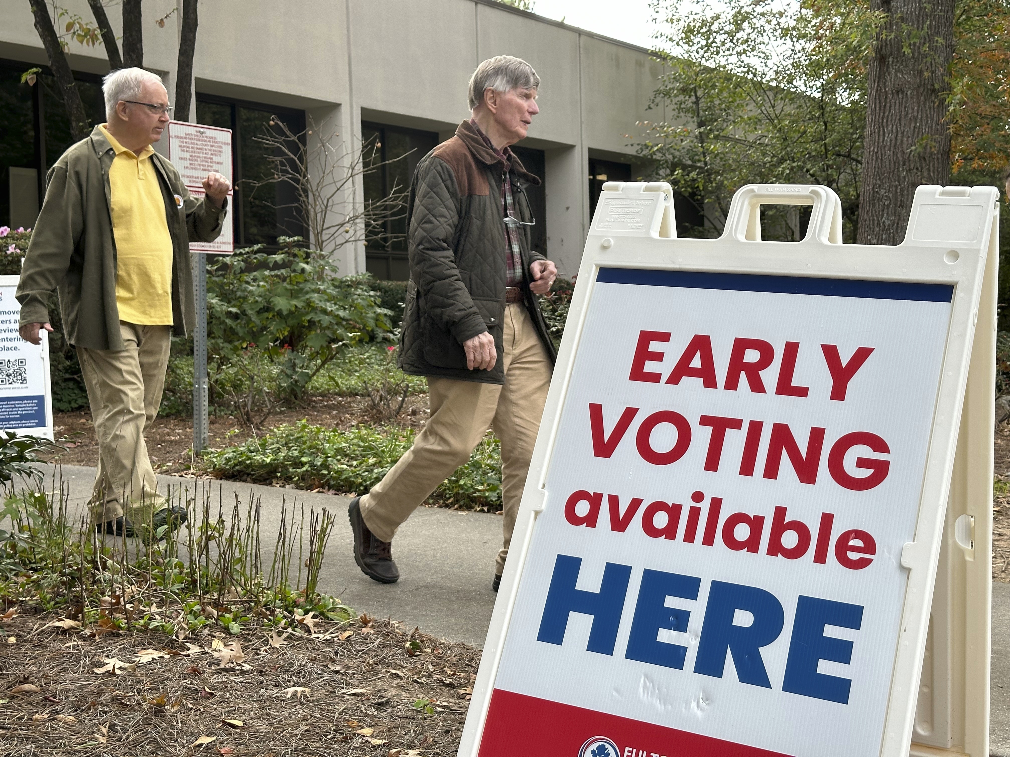
[[[879, 23], [857, 0], [660, 2], [666, 72], [639, 153], [721, 232], [750, 182], [822, 184], [857, 222], [866, 60]], [[785, 219], [792, 238], [798, 219]]]

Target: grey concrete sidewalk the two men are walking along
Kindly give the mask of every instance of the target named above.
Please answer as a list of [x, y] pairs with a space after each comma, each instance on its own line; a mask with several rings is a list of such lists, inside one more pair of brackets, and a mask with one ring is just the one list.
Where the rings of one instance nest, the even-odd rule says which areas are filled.
[[[95, 469], [67, 465], [62, 472], [72, 507], [83, 512]], [[358, 612], [392, 617], [439, 638], [483, 646], [495, 602], [491, 578], [502, 538], [499, 516], [419, 508], [397, 533], [394, 557], [401, 578], [388, 585], [368, 578], [355, 564], [345, 520], [349, 498], [175, 476], [159, 476], [159, 481], [160, 489], [182, 485], [201, 498], [209, 490], [213, 502], [220, 494], [225, 504], [233, 503], [235, 494], [242, 503], [250, 495], [260, 498], [265, 549], [277, 534], [283, 501], [335, 511], [321, 591], [339, 597]], [[992, 666], [990, 754], [1010, 757], [1010, 583], [993, 584]]]

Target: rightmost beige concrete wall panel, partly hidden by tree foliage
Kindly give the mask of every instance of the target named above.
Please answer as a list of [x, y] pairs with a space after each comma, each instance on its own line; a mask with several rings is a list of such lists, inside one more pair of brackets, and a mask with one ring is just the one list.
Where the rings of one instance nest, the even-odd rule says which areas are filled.
[[652, 92], [659, 86], [663, 67], [633, 47], [587, 35], [580, 40], [585, 144], [600, 150], [634, 154], [630, 142], [640, 135], [635, 121], [664, 118], [662, 107], [646, 111]]

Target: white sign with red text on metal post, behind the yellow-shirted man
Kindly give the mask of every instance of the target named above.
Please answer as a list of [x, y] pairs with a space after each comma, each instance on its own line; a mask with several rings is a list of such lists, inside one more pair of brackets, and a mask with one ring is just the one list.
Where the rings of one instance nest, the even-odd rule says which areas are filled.
[[[179, 170], [196, 199], [204, 197], [202, 182], [210, 172], [233, 183], [231, 130], [170, 121], [169, 159]], [[229, 204], [232, 193], [228, 192]], [[213, 242], [190, 244], [193, 255], [193, 295], [196, 326], [193, 330], [193, 452], [199, 454], [210, 440], [210, 404], [207, 379], [207, 253], [229, 254], [234, 249], [231, 222], [225, 221], [221, 236]]]

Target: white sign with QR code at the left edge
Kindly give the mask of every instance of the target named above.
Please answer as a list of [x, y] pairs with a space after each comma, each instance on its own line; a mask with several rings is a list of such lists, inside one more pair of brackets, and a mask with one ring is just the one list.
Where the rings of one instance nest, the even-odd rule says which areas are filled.
[[[49, 335], [39, 330], [41, 343], [37, 345], [20, 337], [21, 305], [14, 298], [18, 281], [18, 276], [0, 276], [0, 429], [52, 440]], [[38, 420], [42, 422], [27, 425]]]

